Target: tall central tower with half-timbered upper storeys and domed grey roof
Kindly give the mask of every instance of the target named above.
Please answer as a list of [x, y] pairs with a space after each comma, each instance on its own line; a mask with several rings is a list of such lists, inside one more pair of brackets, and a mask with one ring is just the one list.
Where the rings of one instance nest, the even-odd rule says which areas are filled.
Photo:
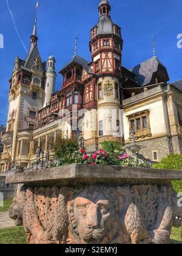
[[111, 19], [111, 5], [101, 0], [98, 24], [90, 30], [90, 52], [93, 71], [97, 74], [98, 144], [107, 140], [121, 141], [121, 28]]

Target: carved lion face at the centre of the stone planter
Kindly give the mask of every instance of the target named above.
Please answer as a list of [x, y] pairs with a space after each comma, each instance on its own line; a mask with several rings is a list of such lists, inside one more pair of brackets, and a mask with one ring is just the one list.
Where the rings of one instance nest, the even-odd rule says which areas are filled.
[[109, 243], [116, 235], [119, 214], [111, 192], [114, 193], [104, 193], [103, 187], [90, 186], [71, 202], [70, 222], [79, 237], [78, 242]]

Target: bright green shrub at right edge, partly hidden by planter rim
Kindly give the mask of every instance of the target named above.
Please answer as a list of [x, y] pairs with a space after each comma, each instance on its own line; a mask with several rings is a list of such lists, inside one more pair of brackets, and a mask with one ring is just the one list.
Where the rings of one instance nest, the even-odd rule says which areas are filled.
[[[182, 155], [168, 155], [166, 158], [163, 158], [160, 163], [153, 165], [153, 168], [157, 169], [174, 169], [178, 171], [182, 171]], [[182, 181], [174, 180], [172, 181], [172, 185], [174, 190], [182, 192]]]

